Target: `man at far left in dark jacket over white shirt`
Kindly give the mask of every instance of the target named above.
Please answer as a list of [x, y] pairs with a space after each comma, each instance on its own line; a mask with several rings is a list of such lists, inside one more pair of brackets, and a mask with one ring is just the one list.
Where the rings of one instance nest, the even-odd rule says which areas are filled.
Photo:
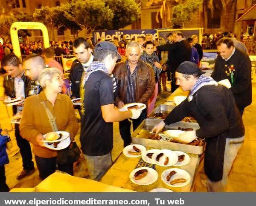
[[[3, 69], [7, 73], [3, 82], [5, 96], [9, 96], [11, 98], [26, 98], [29, 93], [30, 81], [24, 74], [25, 72], [20, 59], [15, 54], [8, 54], [3, 57], [1, 63]], [[17, 114], [17, 112], [22, 111], [23, 103], [14, 105], [12, 108], [13, 114]], [[17, 179], [19, 180], [35, 171], [35, 168], [32, 161], [30, 144], [20, 136], [19, 124], [15, 124], [15, 137], [17, 146], [20, 148], [20, 155], [22, 157], [23, 164], [23, 170], [17, 176]]]

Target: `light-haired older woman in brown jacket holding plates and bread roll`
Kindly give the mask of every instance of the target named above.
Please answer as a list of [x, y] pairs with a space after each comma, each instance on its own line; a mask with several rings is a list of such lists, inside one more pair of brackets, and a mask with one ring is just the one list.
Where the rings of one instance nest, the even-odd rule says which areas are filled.
[[78, 131], [73, 103], [70, 97], [60, 94], [64, 82], [58, 69], [42, 70], [38, 80], [44, 90], [38, 95], [26, 98], [20, 122], [20, 134], [32, 143], [32, 152], [35, 154], [41, 179], [45, 179], [55, 172], [57, 166], [58, 170], [73, 175], [73, 163], [58, 164], [56, 161], [57, 151], [47, 149], [43, 142], [43, 135], [52, 132], [52, 123], [47, 114], [47, 109], [49, 109], [58, 131], [69, 132], [72, 144]]

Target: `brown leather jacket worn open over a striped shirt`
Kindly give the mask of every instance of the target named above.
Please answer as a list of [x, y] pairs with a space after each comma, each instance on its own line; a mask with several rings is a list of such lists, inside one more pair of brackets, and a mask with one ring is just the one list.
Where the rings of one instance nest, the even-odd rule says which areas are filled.
[[[114, 75], [116, 77], [118, 85], [118, 95], [115, 99], [116, 106], [120, 101], [125, 102], [126, 92], [127, 92], [127, 60], [123, 63], [118, 63], [114, 70]], [[137, 103], [147, 104], [148, 100], [154, 93], [155, 89], [155, 77], [154, 70], [152, 67], [141, 60], [138, 61], [138, 71], [137, 71], [137, 82], [136, 82], [136, 97], [135, 101]]]

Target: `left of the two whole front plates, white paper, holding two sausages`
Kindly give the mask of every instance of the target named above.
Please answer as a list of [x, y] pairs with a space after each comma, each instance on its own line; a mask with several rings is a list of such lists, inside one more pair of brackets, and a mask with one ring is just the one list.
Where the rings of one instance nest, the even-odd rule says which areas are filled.
[[[142, 179], [140, 180], [135, 180], [134, 179], [134, 174], [135, 172], [141, 170], [141, 169], [147, 169], [148, 170], [148, 174], [143, 177]], [[157, 178], [158, 178], [158, 174], [157, 174], [157, 171], [155, 171], [154, 169], [152, 168], [149, 168], [149, 167], [140, 167], [140, 168], [137, 168], [137, 169], [134, 169], [130, 175], [129, 175], [129, 178], [130, 180], [137, 184], [137, 185], [150, 185], [152, 183], [154, 183], [155, 181], [157, 181]]]

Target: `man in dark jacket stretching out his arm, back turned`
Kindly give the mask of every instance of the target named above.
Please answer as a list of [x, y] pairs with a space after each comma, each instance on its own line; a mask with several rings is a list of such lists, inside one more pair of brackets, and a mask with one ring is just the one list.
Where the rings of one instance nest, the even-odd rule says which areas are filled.
[[174, 92], [178, 86], [175, 84], [175, 71], [178, 66], [184, 61], [190, 61], [191, 58], [191, 46], [184, 39], [183, 34], [178, 31], [173, 33], [173, 44], [165, 44], [157, 46], [158, 51], [168, 51], [168, 62], [167, 66], [171, 69], [172, 75], [172, 88], [171, 91]]

